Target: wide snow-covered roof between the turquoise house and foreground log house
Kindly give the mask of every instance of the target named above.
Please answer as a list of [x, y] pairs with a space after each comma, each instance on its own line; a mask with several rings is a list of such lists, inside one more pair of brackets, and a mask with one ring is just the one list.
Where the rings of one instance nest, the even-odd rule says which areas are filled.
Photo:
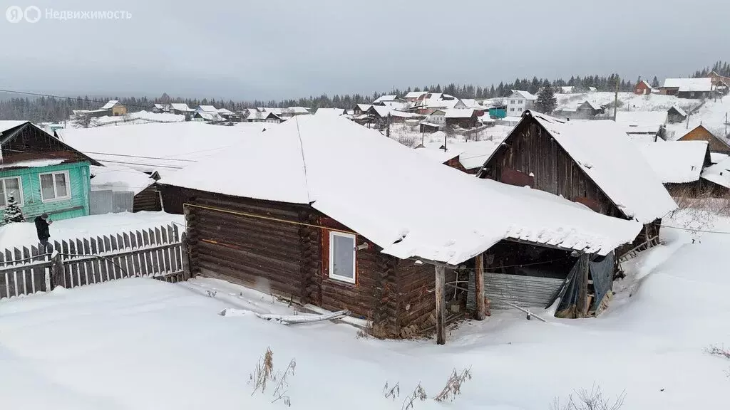
[[160, 174], [232, 147], [247, 135], [242, 128], [199, 121], [64, 128], [56, 133], [61, 141], [96, 160]]

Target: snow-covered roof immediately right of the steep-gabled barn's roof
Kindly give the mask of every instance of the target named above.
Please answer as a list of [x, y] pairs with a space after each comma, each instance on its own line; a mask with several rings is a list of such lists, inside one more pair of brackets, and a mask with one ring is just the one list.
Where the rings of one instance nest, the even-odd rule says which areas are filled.
[[707, 141], [672, 141], [637, 144], [661, 182], [694, 182], [704, 166]]

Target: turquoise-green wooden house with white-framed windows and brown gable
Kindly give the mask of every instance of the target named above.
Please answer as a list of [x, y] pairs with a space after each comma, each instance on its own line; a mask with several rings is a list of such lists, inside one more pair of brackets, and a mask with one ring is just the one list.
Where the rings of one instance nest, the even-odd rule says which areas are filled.
[[0, 121], [0, 212], [13, 196], [26, 220], [89, 214], [89, 166], [101, 165], [28, 121]]

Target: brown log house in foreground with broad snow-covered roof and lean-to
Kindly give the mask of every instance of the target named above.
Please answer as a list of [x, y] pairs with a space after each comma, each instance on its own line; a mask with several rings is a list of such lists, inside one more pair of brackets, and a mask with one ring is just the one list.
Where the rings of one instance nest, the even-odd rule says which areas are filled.
[[194, 272], [347, 309], [385, 336], [428, 326], [446, 303], [436, 297], [445, 270], [456, 280], [458, 266], [498, 242], [569, 260], [572, 251], [610, 254], [641, 229], [474, 178], [342, 117], [294, 117], [161, 183], [166, 211], [185, 212]]

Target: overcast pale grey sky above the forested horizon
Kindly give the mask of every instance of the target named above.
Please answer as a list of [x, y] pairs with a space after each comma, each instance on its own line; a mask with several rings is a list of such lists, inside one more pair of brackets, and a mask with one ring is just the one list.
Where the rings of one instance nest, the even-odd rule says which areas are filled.
[[[725, 0], [0, 0], [0, 88], [234, 99], [618, 72], [686, 76], [730, 55]], [[54, 20], [53, 11], [129, 19]], [[723, 55], [723, 50], [725, 55]]]

